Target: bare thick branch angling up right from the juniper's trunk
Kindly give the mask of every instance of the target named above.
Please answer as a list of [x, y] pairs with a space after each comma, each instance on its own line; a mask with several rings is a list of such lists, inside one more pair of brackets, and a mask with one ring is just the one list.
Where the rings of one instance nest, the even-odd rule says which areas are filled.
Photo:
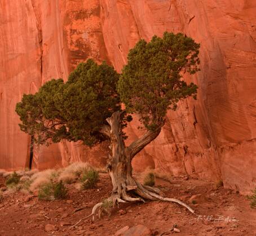
[[159, 134], [160, 134], [161, 128], [158, 128], [155, 131], [147, 131], [147, 133], [145, 133], [142, 137], [140, 137], [139, 139], [135, 140], [133, 143], [130, 144], [129, 147], [127, 147], [127, 149], [130, 152], [130, 158], [131, 160], [133, 159], [133, 157], [139, 153], [140, 151], [142, 151], [142, 149], [147, 146], [149, 143], [151, 143]]

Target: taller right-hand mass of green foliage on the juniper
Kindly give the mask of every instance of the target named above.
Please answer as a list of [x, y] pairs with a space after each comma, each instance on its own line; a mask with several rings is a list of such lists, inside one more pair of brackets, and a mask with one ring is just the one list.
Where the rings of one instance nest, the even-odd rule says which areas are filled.
[[118, 82], [118, 93], [129, 112], [136, 112], [149, 130], [164, 124], [167, 109], [188, 96], [196, 98], [197, 86], [181, 80], [182, 72], [195, 74], [200, 44], [183, 34], [165, 32], [150, 42], [139, 40], [130, 50]]

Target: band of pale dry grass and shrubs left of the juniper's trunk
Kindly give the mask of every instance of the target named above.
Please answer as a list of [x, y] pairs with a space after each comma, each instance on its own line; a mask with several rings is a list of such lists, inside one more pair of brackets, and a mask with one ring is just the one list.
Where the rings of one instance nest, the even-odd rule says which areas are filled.
[[[101, 172], [104, 170], [100, 169]], [[21, 190], [24, 193], [33, 193], [38, 190], [40, 199], [58, 199], [64, 198], [64, 184], [76, 183], [79, 189], [93, 188], [99, 180], [99, 173], [86, 162], [74, 162], [63, 169], [48, 169], [44, 171], [18, 170], [2, 171], [3, 175], [8, 177], [6, 184], [8, 190]], [[56, 192], [55, 192], [56, 189]], [[66, 192], [66, 193], [65, 193]]]

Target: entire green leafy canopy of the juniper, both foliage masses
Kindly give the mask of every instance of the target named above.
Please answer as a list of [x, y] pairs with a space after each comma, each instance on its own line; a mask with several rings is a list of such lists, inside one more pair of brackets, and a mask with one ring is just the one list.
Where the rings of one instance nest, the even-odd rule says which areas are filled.
[[168, 108], [196, 95], [197, 86], [187, 85], [182, 73], [198, 71], [199, 47], [183, 34], [165, 32], [148, 43], [140, 40], [130, 50], [121, 76], [105, 62], [80, 63], [67, 83], [53, 79], [36, 94], [24, 94], [16, 106], [20, 128], [39, 144], [67, 139], [92, 146], [107, 138], [101, 127], [121, 110], [122, 101], [127, 111], [141, 116], [147, 129], [155, 130], [164, 124]]

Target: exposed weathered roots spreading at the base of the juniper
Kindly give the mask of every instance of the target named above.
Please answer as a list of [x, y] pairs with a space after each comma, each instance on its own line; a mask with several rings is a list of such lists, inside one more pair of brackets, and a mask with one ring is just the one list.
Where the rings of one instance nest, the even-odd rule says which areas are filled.
[[[113, 207], [115, 207], [116, 205], [118, 207], [119, 203], [124, 203], [124, 202], [145, 202], [145, 200], [152, 200], [152, 201], [161, 200], [165, 202], [176, 202], [179, 205], [186, 207], [193, 214], [195, 212], [195, 210], [193, 210], [186, 203], [180, 201], [179, 199], [163, 197], [162, 196], [163, 193], [161, 192], [160, 189], [144, 186], [138, 182], [136, 182], [136, 184], [137, 184], [136, 188], [133, 185], [128, 185], [127, 187], [123, 186], [125, 188], [122, 188], [122, 191], [120, 194], [113, 194], [111, 197], [107, 199], [107, 201], [112, 202]], [[132, 186], [133, 188], [131, 188], [130, 186]], [[126, 192], [127, 190], [129, 190], [130, 193], [127, 193]], [[131, 197], [130, 194], [133, 195], [133, 197]], [[99, 217], [100, 217], [101, 213], [105, 211], [101, 209], [102, 207], [103, 207], [103, 202], [97, 203], [92, 208], [91, 214], [89, 216], [86, 216], [85, 219], [92, 216], [92, 221], [94, 221], [95, 212], [98, 208], [100, 208], [99, 210]]]

